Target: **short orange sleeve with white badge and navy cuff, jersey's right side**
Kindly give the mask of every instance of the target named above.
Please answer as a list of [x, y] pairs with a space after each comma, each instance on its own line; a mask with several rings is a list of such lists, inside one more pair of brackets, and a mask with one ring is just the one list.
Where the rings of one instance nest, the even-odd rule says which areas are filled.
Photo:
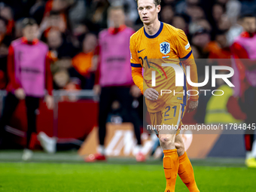
[[178, 53], [178, 57], [180, 59], [187, 59], [188, 57], [190, 57], [192, 49], [187, 40], [187, 35], [185, 35], [184, 31], [182, 31], [181, 29], [178, 29], [175, 47], [177, 51], [176, 53]]

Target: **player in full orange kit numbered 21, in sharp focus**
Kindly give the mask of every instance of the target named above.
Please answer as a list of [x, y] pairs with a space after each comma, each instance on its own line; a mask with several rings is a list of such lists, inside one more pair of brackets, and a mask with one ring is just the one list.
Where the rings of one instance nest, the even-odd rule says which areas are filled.
[[[198, 96], [192, 93], [197, 91], [197, 87], [188, 87], [187, 81], [184, 81], [184, 87], [175, 87], [174, 69], [170, 66], [161, 66], [161, 63], [174, 63], [177, 65], [175, 68], [190, 66], [190, 79], [197, 83], [194, 56], [184, 32], [158, 20], [160, 0], [136, 0], [136, 2], [144, 27], [130, 38], [133, 81], [146, 98], [151, 124], [172, 126], [170, 130], [158, 130], [164, 154], [165, 192], [175, 191], [177, 173], [188, 190], [199, 191], [194, 179], [194, 170], [184, 151], [184, 142], [178, 135], [179, 130], [174, 128], [181, 126], [181, 118], [186, 106], [188, 112], [197, 108]], [[155, 74], [155, 87], [151, 85], [154, 84], [151, 74]], [[190, 95], [194, 96], [190, 96], [188, 101], [187, 88], [195, 90], [190, 92]], [[161, 96], [161, 90], [172, 90], [172, 94]], [[173, 95], [174, 91], [175, 95]]]

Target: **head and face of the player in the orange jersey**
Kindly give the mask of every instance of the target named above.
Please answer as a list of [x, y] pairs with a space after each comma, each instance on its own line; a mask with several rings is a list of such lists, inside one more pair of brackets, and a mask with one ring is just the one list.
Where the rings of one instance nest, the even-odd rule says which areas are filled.
[[139, 0], [138, 11], [139, 17], [144, 24], [151, 24], [157, 20], [157, 15], [160, 12], [160, 5], [154, 5], [154, 0]]

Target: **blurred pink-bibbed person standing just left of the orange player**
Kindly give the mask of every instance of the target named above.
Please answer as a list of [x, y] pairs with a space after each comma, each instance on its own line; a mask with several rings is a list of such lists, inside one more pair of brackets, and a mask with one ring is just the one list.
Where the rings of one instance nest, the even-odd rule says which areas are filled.
[[[123, 110], [123, 121], [132, 122], [138, 145], [138, 161], [145, 160], [140, 136], [140, 121], [136, 113], [132, 111], [133, 96], [141, 95], [140, 90], [133, 84], [130, 69], [130, 36], [133, 29], [126, 27], [125, 14], [122, 7], [111, 7], [108, 10], [108, 20], [111, 27], [99, 34], [99, 78], [93, 87], [99, 96], [99, 147], [97, 154], [90, 154], [87, 162], [106, 160], [105, 136], [106, 121], [111, 111], [114, 100], [120, 102]], [[97, 82], [97, 80], [99, 82]]]

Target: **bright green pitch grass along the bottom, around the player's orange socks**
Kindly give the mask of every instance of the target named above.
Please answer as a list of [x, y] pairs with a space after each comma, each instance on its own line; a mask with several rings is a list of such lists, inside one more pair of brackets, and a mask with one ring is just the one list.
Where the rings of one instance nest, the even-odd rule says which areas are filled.
[[[256, 169], [194, 166], [200, 191], [255, 191]], [[163, 192], [161, 165], [0, 163], [0, 191]], [[177, 179], [175, 191], [188, 191]]]

